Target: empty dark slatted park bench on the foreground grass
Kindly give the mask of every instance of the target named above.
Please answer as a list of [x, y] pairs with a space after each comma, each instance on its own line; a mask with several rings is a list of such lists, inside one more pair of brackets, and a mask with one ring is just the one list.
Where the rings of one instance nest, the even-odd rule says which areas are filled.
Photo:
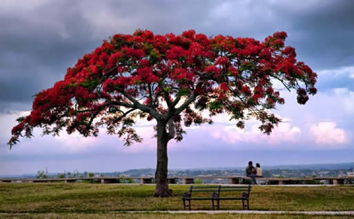
[[[211, 200], [211, 205], [213, 207], [213, 210], [215, 209], [215, 204], [216, 208], [219, 210], [220, 209], [220, 200], [242, 200], [242, 209], [247, 208], [248, 210], [250, 209], [249, 205], [249, 198], [250, 198], [250, 185], [248, 186], [242, 186], [242, 187], [233, 187], [233, 186], [222, 186], [222, 185], [217, 185], [217, 186], [190, 186], [188, 192], [184, 193], [182, 196], [183, 200], [183, 208], [186, 209], [191, 209], [191, 200]], [[192, 197], [194, 193], [201, 193], [201, 192], [211, 192], [209, 197]], [[240, 192], [241, 196], [222, 196], [222, 192]], [[239, 194], [239, 193], [238, 193]], [[188, 205], [186, 205], [186, 202], [188, 201]], [[245, 203], [246, 202], [246, 203]]]

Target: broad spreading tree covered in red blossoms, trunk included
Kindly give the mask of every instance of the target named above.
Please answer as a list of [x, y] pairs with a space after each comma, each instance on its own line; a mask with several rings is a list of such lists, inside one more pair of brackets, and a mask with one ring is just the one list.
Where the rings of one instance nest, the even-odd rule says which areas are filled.
[[[295, 59], [285, 47], [285, 32], [263, 42], [188, 30], [181, 35], [154, 35], [137, 30], [116, 34], [69, 67], [63, 81], [37, 94], [29, 116], [18, 118], [10, 147], [19, 137], [31, 137], [34, 127], [43, 134], [79, 132], [97, 136], [99, 127], [123, 137], [125, 145], [141, 142], [132, 126], [155, 120], [157, 168], [155, 196], [170, 196], [167, 145], [182, 139], [184, 127], [212, 123], [227, 113], [237, 127], [255, 117], [259, 129], [270, 134], [280, 119], [269, 110], [284, 99], [273, 88], [278, 81], [297, 90], [305, 104], [315, 94], [317, 74]], [[204, 118], [202, 111], [210, 116]]]

